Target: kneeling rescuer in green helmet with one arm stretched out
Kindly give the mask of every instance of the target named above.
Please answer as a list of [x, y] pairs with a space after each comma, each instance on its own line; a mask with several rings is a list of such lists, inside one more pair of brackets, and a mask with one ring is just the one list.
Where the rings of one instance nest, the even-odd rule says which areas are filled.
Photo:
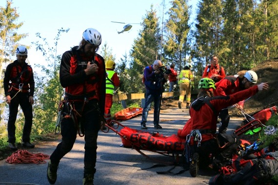
[[[261, 83], [235, 94], [214, 97], [215, 88], [215, 82], [210, 78], [199, 81], [198, 99], [189, 109], [191, 118], [182, 130], [178, 130], [178, 136], [187, 139], [186, 156], [190, 162], [189, 172], [192, 177], [197, 176], [199, 166], [207, 167], [212, 164], [210, 166], [218, 170], [240, 144], [236, 135], [216, 133], [219, 111], [255, 95], [258, 91], [267, 90], [268, 84]], [[210, 154], [212, 157], [209, 157]]]

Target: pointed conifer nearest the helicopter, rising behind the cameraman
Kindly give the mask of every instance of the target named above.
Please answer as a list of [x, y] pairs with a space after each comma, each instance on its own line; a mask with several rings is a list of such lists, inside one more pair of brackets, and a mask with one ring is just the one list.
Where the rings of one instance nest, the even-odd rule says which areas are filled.
[[157, 13], [153, 10], [147, 11], [143, 22], [141, 23], [143, 29], [139, 31], [139, 36], [134, 40], [130, 56], [130, 68], [127, 71], [129, 84], [129, 93], [140, 93], [145, 90], [142, 84], [143, 69], [152, 65], [159, 55], [159, 22]]

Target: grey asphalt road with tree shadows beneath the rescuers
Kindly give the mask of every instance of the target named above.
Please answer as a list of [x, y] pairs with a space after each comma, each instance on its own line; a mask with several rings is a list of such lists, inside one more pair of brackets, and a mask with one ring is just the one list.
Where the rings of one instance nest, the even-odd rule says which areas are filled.
[[[171, 136], [176, 134], [178, 129], [182, 129], [188, 119], [188, 110], [175, 108], [161, 111], [160, 125], [163, 129], [154, 129], [153, 114], [149, 114], [149, 121], [146, 125], [150, 132], [159, 131], [165, 136]], [[240, 125], [241, 120], [238, 118], [231, 119], [228, 131], [233, 132]], [[140, 129], [140, 121], [141, 116], [137, 116], [120, 123], [132, 129]], [[51, 155], [59, 142], [60, 140], [44, 142], [40, 146], [28, 149], [28, 151]], [[120, 147], [121, 144], [121, 139], [116, 132], [112, 130], [108, 133], [99, 131], [95, 185], [207, 185], [210, 177], [214, 175], [212, 171], [200, 171], [200, 175], [195, 178], [191, 177], [189, 171], [179, 175], [157, 174], [157, 171], [167, 171], [173, 166], [142, 170], [142, 168], [158, 163], [139, 154], [135, 149]], [[161, 161], [173, 160], [172, 157], [156, 152], [147, 151], [145, 153]], [[60, 161], [56, 185], [82, 184], [83, 157], [84, 138], [78, 136], [73, 149]], [[172, 172], [176, 173], [182, 169], [181, 166], [176, 166]], [[47, 163], [11, 165], [2, 160], [0, 161], [0, 185], [48, 185], [46, 170]]]

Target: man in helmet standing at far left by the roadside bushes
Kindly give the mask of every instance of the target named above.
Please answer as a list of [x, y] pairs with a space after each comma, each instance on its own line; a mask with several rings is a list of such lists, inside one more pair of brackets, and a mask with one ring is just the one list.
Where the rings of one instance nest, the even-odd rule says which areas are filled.
[[19, 105], [23, 111], [25, 122], [22, 133], [22, 146], [34, 148], [30, 143], [30, 133], [33, 124], [33, 109], [35, 81], [33, 70], [25, 60], [27, 58], [27, 49], [25, 46], [19, 46], [16, 50], [17, 60], [9, 64], [6, 68], [4, 77], [4, 91], [6, 103], [9, 104], [8, 120], [8, 143], [9, 147], [17, 150], [16, 142], [16, 119]]

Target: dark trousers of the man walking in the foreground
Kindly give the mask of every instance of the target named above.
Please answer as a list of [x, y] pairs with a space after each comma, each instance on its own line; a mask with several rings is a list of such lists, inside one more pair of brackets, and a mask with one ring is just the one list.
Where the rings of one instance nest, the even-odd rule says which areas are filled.
[[[76, 110], [81, 110], [83, 103], [76, 103]], [[84, 173], [94, 174], [96, 172], [97, 161], [97, 139], [100, 129], [99, 112], [96, 110], [96, 104], [89, 102], [86, 104], [82, 117], [81, 124], [85, 130], [85, 153], [84, 153]], [[63, 117], [67, 112], [67, 106], [64, 106]], [[77, 137], [77, 128], [72, 118], [63, 118], [61, 121], [62, 141], [50, 156], [52, 163], [59, 164], [60, 159], [67, 154], [75, 143]]]

